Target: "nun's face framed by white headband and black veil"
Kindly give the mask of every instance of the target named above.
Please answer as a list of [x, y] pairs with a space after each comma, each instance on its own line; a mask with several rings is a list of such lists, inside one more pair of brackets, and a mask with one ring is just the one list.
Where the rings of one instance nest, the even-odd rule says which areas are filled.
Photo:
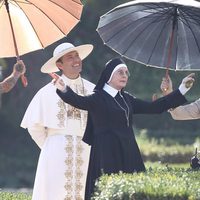
[[126, 67], [120, 67], [113, 73], [113, 76], [108, 84], [117, 90], [121, 90], [126, 87], [128, 76], [128, 69]]

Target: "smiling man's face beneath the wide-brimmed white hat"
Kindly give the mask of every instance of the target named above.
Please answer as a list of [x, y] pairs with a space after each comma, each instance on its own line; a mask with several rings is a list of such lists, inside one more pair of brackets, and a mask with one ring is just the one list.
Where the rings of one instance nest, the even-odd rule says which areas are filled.
[[77, 78], [82, 71], [82, 61], [77, 51], [65, 54], [56, 65], [65, 76], [71, 79]]

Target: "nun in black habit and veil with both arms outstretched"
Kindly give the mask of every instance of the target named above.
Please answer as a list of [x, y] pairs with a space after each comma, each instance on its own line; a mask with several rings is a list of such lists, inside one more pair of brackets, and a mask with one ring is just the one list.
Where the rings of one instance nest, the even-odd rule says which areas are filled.
[[85, 200], [94, 192], [95, 181], [104, 174], [145, 171], [144, 162], [133, 132], [134, 114], [160, 114], [186, 102], [190, 89], [183, 79], [179, 89], [153, 102], [135, 98], [124, 91], [129, 78], [127, 65], [121, 58], [106, 63], [94, 93], [80, 96], [64, 84], [54, 81], [60, 98], [74, 107], [87, 110], [88, 122], [83, 140], [91, 145]]

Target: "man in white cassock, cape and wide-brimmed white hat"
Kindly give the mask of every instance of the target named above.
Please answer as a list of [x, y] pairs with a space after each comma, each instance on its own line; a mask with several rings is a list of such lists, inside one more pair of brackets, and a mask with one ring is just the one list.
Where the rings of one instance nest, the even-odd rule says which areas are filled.
[[[61, 70], [66, 85], [82, 96], [91, 94], [94, 84], [81, 78], [80, 72], [92, 49], [90, 44], [62, 43], [41, 71]], [[64, 103], [53, 82], [34, 96], [21, 122], [41, 148], [32, 200], [84, 199], [90, 151], [82, 141], [86, 122], [87, 112]]]

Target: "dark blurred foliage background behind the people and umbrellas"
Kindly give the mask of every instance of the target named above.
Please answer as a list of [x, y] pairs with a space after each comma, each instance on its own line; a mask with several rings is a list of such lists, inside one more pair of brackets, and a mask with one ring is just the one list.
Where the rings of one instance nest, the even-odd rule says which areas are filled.
[[[39, 50], [22, 56], [27, 66], [29, 85], [23, 88], [19, 81], [15, 88], [1, 97], [0, 110], [0, 188], [32, 187], [36, 171], [39, 149], [31, 140], [28, 132], [20, 128], [23, 114], [35, 93], [51, 78], [40, 72], [41, 66], [52, 55], [53, 49], [61, 42], [71, 42], [75, 45], [91, 43], [93, 53], [84, 60], [82, 76], [94, 83], [97, 82], [104, 64], [118, 56], [106, 47], [100, 39], [96, 28], [99, 17], [113, 7], [127, 1], [123, 0], [85, 0], [81, 22], [64, 39], [50, 45], [45, 50]], [[42, 25], [42, 24], [41, 24]], [[67, 25], [67, 22], [66, 22]], [[1, 47], [3, 48], [3, 47]], [[3, 66], [3, 77], [12, 71], [15, 58], [0, 59]], [[135, 96], [151, 101], [153, 93], [160, 94], [160, 82], [165, 76], [165, 70], [146, 67], [126, 60], [131, 77], [127, 91]], [[178, 87], [182, 78], [189, 72], [170, 71], [174, 88]], [[187, 98], [193, 101], [199, 98], [200, 73], [196, 72], [196, 82]], [[174, 121], [169, 113], [161, 115], [138, 115], [134, 118], [136, 129], [147, 129], [149, 136], [175, 138], [178, 142], [190, 144], [199, 135], [200, 123], [193, 121]]]

